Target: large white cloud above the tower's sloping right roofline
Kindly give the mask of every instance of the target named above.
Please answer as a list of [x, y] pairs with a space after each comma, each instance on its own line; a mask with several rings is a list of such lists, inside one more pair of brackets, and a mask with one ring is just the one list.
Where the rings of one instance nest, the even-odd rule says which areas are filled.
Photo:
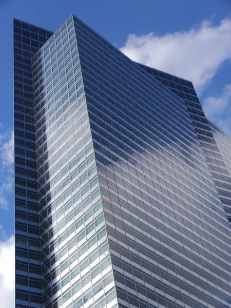
[[133, 61], [175, 74], [201, 91], [221, 64], [231, 58], [231, 20], [213, 26], [204, 21], [187, 31], [158, 36], [130, 34], [120, 48]]

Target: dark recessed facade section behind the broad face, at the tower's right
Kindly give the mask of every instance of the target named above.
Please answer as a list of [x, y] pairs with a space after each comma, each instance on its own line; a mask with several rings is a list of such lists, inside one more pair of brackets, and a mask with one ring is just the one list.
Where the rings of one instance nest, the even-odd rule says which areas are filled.
[[[219, 138], [215, 138], [215, 135], [218, 136], [218, 133], [215, 133], [217, 129], [215, 127], [213, 128], [206, 119], [194, 86], [190, 81], [178, 78], [177, 76], [164, 73], [142, 64], [139, 65], [184, 100], [227, 215], [227, 219], [231, 225], [231, 174], [228, 171], [229, 165], [227, 163], [225, 164], [225, 158], [221, 153], [222, 149], [220, 146], [222, 146], [222, 143], [219, 142]], [[219, 133], [219, 135], [220, 134], [222, 133]], [[224, 134], [222, 134], [222, 136], [224, 136]], [[227, 138], [228, 137], [226, 137], [226, 140]], [[228, 143], [230, 143], [230, 140]]]

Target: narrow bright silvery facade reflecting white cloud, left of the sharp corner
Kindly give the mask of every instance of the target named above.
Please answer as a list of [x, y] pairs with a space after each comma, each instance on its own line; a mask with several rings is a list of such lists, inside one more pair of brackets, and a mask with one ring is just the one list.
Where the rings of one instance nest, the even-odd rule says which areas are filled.
[[32, 76], [44, 307], [111, 307], [117, 301], [72, 17], [33, 56]]

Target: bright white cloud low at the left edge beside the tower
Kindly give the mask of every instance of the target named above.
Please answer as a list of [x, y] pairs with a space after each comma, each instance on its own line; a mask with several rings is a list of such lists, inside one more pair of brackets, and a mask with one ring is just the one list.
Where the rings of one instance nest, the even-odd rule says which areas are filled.
[[[0, 229], [2, 229], [0, 227]], [[14, 307], [14, 237], [0, 242], [1, 307]]]

